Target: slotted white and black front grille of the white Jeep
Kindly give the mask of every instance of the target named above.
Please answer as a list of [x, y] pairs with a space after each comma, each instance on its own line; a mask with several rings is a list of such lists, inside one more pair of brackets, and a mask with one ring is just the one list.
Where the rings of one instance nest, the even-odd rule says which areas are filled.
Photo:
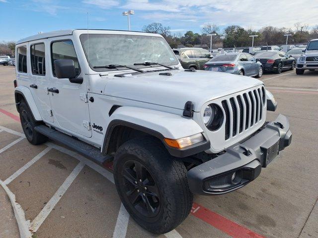
[[225, 140], [244, 132], [262, 119], [265, 110], [264, 92], [265, 89], [261, 87], [222, 101], [225, 111]]

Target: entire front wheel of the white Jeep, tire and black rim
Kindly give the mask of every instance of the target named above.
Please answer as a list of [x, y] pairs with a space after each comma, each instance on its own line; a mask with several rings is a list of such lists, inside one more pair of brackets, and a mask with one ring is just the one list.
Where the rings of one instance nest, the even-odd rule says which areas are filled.
[[141, 227], [155, 234], [173, 230], [188, 216], [193, 195], [186, 173], [157, 138], [132, 139], [115, 154], [114, 180], [121, 201]]

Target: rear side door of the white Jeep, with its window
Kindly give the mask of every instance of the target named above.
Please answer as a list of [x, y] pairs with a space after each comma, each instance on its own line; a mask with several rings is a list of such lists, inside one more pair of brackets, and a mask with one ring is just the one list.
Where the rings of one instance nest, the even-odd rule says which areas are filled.
[[48, 75], [46, 68], [49, 68], [47, 58], [47, 41], [40, 40], [29, 43], [30, 50], [30, 85], [32, 96], [44, 121], [53, 122], [52, 105], [48, 94]]

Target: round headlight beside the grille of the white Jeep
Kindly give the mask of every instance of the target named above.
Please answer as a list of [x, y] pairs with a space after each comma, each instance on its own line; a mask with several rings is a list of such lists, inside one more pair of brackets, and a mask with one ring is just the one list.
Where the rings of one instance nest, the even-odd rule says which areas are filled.
[[204, 109], [203, 121], [205, 126], [212, 131], [215, 131], [223, 124], [222, 109], [216, 104], [210, 104]]

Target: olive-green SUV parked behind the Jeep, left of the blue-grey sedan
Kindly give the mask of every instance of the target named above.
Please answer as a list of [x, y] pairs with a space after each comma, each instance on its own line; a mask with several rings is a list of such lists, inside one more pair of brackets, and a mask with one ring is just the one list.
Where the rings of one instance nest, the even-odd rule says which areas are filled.
[[203, 65], [213, 58], [211, 53], [202, 48], [173, 49], [183, 68], [203, 70]]

